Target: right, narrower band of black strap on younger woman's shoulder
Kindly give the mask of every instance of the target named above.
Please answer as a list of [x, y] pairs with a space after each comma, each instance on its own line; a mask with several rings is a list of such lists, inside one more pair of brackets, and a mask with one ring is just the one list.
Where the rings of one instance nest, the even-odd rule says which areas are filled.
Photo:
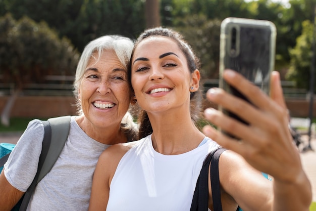
[[222, 201], [221, 201], [221, 185], [220, 185], [220, 175], [219, 175], [219, 159], [226, 149], [220, 148], [214, 153], [212, 161], [210, 164], [210, 184], [212, 186], [212, 198], [214, 211], [222, 211]]

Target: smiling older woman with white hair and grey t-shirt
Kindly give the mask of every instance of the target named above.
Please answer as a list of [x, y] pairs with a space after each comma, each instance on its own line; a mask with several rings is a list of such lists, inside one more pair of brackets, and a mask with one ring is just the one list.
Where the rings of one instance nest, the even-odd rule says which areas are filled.
[[[78, 115], [71, 117], [66, 144], [37, 184], [28, 210], [87, 210], [98, 156], [136, 136], [127, 113], [133, 101], [127, 77], [132, 49], [132, 40], [118, 35], [99, 37], [85, 47], [74, 82]], [[0, 175], [1, 210], [10, 210], [33, 181], [43, 133], [40, 120], [30, 121], [11, 153]]]

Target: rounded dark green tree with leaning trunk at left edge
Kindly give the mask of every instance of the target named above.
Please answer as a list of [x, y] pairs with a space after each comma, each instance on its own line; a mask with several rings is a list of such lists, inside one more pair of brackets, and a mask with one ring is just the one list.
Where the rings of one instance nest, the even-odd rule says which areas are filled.
[[2, 123], [8, 125], [11, 108], [25, 84], [41, 82], [46, 75], [74, 75], [79, 53], [45, 22], [28, 17], [16, 21], [10, 14], [0, 19], [0, 44], [2, 82], [15, 85], [2, 112]]

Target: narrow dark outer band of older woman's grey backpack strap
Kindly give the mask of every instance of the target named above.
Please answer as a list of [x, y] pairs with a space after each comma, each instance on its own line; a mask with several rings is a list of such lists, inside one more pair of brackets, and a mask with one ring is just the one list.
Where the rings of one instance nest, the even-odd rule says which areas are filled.
[[28, 203], [30, 201], [30, 198], [34, 192], [35, 186], [37, 184], [37, 179], [39, 177], [39, 172], [44, 164], [44, 160], [46, 158], [49, 145], [50, 145], [50, 139], [51, 139], [51, 129], [50, 129], [50, 124], [48, 121], [42, 121], [44, 124], [44, 138], [43, 138], [43, 144], [42, 144], [42, 151], [39, 156], [39, 161], [38, 161], [38, 166], [37, 166], [37, 173], [35, 175], [35, 178], [30, 185], [30, 187], [27, 189], [23, 196], [22, 204], [20, 206], [19, 211], [26, 210]]

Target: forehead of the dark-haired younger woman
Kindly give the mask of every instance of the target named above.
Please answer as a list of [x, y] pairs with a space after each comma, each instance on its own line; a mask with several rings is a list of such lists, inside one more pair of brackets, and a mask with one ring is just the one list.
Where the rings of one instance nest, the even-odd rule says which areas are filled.
[[140, 41], [134, 50], [133, 58], [161, 55], [166, 52], [175, 52], [183, 55], [174, 39], [164, 36], [152, 36]]

